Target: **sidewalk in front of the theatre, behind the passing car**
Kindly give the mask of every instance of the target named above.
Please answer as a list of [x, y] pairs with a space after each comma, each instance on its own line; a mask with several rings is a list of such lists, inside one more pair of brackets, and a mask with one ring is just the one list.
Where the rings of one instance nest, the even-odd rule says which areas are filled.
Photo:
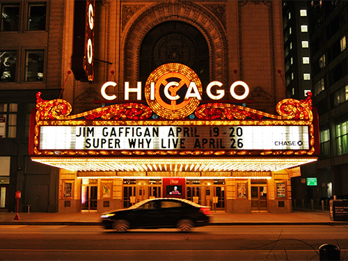
[[[0, 225], [100, 226], [100, 213], [16, 213], [0, 212]], [[329, 212], [293, 211], [286, 214], [269, 212], [228, 214], [212, 212], [212, 225], [348, 225], [348, 222], [330, 221]]]

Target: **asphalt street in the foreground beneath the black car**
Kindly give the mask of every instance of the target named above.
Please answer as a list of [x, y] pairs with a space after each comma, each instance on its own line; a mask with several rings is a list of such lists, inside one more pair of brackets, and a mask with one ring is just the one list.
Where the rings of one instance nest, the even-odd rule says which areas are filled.
[[348, 226], [207, 226], [116, 233], [100, 226], [0, 226], [0, 260], [319, 260]]

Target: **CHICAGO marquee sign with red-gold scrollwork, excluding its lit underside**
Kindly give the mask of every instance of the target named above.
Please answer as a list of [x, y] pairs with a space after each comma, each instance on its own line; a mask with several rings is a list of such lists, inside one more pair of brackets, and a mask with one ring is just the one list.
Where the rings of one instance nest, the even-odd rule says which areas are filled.
[[[109, 84], [102, 87], [104, 95]], [[311, 95], [301, 101], [281, 100], [276, 114], [271, 114], [216, 102], [225, 95], [221, 85], [208, 84], [207, 95], [214, 102], [200, 104], [202, 84], [197, 74], [186, 65], [168, 63], [148, 77], [147, 104], [117, 103], [70, 115], [71, 104], [45, 101], [38, 93], [31, 120], [35, 122], [31, 155], [288, 157], [319, 153]], [[244, 94], [235, 98], [244, 99], [249, 90], [243, 81], [232, 84], [230, 94], [236, 95], [237, 85], [244, 87]], [[125, 83], [126, 99], [132, 92], [140, 99], [141, 83], [137, 88]]]

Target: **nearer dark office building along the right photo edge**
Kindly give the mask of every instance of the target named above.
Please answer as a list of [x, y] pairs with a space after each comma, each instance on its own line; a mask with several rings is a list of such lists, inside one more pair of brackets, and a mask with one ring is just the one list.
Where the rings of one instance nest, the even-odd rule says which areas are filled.
[[319, 113], [319, 196], [347, 196], [348, 4], [308, 3], [313, 101]]

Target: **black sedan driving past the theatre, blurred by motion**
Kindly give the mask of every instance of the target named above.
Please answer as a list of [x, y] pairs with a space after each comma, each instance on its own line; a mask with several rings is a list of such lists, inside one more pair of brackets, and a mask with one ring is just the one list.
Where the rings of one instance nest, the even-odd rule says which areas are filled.
[[106, 229], [125, 232], [130, 228], [179, 228], [190, 231], [196, 226], [207, 226], [211, 216], [209, 207], [203, 207], [180, 198], [153, 198], [143, 200], [127, 209], [102, 214]]

